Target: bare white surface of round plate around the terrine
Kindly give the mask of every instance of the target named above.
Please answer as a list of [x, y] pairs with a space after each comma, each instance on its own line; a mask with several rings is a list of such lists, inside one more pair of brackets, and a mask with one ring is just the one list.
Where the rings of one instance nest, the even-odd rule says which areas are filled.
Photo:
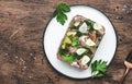
[[106, 28], [106, 35], [103, 36], [92, 61], [102, 59], [108, 61], [108, 64], [111, 62], [117, 49], [117, 35], [109, 19], [99, 10], [87, 5], [73, 5], [70, 7], [70, 10], [72, 11], [67, 13], [68, 21], [66, 21], [64, 26], [57, 23], [56, 19], [52, 19], [47, 24], [46, 31], [44, 32], [44, 51], [50, 63], [58, 72], [73, 79], [87, 79], [91, 76], [90, 67], [87, 70], [79, 70], [59, 61], [56, 56], [61, 41], [73, 17], [75, 15], [82, 15], [102, 24]]

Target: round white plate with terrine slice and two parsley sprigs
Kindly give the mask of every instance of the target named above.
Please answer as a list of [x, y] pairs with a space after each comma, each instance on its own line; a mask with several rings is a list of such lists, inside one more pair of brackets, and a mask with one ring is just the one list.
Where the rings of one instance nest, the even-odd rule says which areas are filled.
[[44, 31], [51, 65], [73, 79], [101, 77], [117, 49], [117, 34], [105, 13], [88, 5], [57, 4]]

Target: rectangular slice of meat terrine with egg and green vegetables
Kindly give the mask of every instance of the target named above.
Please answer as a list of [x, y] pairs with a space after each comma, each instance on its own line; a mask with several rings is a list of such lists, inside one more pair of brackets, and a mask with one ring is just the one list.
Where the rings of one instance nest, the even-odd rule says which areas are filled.
[[68, 64], [86, 70], [105, 35], [105, 27], [81, 15], [72, 20], [62, 40], [57, 58]]

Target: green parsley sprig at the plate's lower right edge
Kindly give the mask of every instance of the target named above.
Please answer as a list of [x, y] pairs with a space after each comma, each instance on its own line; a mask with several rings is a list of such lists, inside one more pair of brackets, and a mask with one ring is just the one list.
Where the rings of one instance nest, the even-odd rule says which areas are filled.
[[101, 76], [103, 76], [107, 69], [108, 69], [107, 61], [102, 61], [102, 60], [94, 61], [91, 63], [92, 77], [101, 77]]

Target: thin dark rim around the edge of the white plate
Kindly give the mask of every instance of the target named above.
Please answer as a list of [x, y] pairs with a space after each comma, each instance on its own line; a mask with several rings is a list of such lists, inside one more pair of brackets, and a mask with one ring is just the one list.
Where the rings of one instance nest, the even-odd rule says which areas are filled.
[[[118, 50], [118, 43], [119, 43], [119, 41], [118, 41], [118, 33], [117, 33], [117, 31], [116, 31], [116, 27], [114, 27], [112, 21], [110, 20], [110, 17], [109, 17], [105, 12], [102, 12], [101, 10], [99, 10], [99, 9], [92, 7], [92, 5], [89, 5], [89, 4], [72, 4], [72, 5], [69, 5], [69, 7], [72, 8], [72, 7], [78, 7], [78, 5], [80, 5], [80, 7], [89, 7], [89, 8], [91, 8], [91, 9], [95, 9], [95, 10], [99, 11], [99, 12], [102, 13], [102, 14], [109, 20], [109, 22], [111, 23], [111, 25], [112, 25], [112, 27], [113, 27], [113, 31], [114, 31], [114, 33], [116, 33], [116, 41], [117, 41], [117, 44], [116, 44], [116, 50], [114, 50], [113, 57], [112, 57], [112, 59], [111, 59], [111, 61], [112, 61], [112, 60], [114, 59], [114, 57], [116, 57], [116, 53], [117, 53], [117, 50]], [[46, 52], [45, 52], [44, 37], [45, 37], [45, 32], [46, 32], [46, 29], [47, 29], [47, 26], [48, 26], [50, 22], [52, 21], [52, 19], [53, 19], [53, 16], [47, 21], [47, 24], [46, 24], [46, 26], [45, 26], [45, 28], [44, 28], [44, 31], [43, 31], [43, 40], [42, 40], [42, 44], [43, 44], [43, 52], [44, 52], [44, 55], [46, 56], [47, 62], [50, 63], [50, 65], [52, 67], [52, 69], [55, 70], [55, 72], [57, 72], [57, 73], [61, 74], [61, 75], [65, 75], [65, 76], [68, 77], [68, 79], [73, 79], [73, 80], [88, 80], [88, 79], [91, 79], [91, 76], [80, 79], [80, 77], [73, 77], [73, 76], [66, 75], [66, 74], [59, 72], [57, 69], [55, 69], [55, 68], [52, 65], [52, 63], [50, 62], [50, 60], [48, 60], [48, 58], [47, 58], [47, 55], [46, 55]], [[44, 57], [44, 56], [43, 56], [43, 57]], [[110, 61], [108, 68], [110, 67], [111, 61]]]

